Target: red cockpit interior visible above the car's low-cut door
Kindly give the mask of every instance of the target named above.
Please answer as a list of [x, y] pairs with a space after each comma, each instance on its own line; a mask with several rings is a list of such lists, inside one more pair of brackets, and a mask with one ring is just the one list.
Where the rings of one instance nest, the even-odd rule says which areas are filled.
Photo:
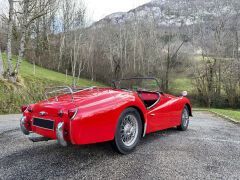
[[153, 106], [160, 99], [160, 94], [158, 92], [149, 91], [137, 91], [138, 96], [141, 98], [146, 108]]

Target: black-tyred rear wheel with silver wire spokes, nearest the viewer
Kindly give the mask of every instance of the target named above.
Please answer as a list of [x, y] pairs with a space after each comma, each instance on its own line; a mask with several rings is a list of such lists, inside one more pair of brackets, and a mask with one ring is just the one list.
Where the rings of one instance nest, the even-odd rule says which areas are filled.
[[121, 154], [132, 152], [137, 146], [142, 133], [141, 117], [134, 108], [124, 110], [119, 118], [114, 149]]

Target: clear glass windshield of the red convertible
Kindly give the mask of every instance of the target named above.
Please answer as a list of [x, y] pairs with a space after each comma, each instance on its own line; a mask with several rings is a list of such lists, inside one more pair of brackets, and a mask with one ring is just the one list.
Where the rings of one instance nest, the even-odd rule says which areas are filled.
[[114, 85], [118, 89], [132, 91], [159, 91], [159, 83], [155, 78], [129, 78], [115, 81]]

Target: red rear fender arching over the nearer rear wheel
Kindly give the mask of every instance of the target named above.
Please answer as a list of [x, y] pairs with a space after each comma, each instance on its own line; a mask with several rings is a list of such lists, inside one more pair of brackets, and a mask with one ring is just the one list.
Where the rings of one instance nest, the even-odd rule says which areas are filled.
[[147, 123], [146, 108], [139, 97], [132, 93], [117, 97], [96, 107], [79, 107], [78, 115], [70, 121], [70, 137], [73, 144], [90, 144], [114, 139], [121, 113], [128, 107], [136, 108]]

